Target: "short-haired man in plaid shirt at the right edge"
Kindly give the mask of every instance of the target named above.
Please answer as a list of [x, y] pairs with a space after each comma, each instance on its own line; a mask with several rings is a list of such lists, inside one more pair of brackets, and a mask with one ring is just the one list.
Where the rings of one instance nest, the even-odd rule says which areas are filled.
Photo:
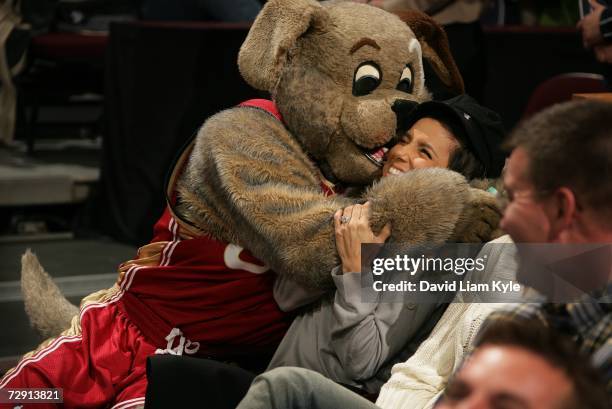
[[515, 130], [506, 146], [513, 151], [504, 175], [508, 204], [502, 229], [519, 246], [600, 243], [608, 254], [604, 263], [585, 264], [575, 277], [578, 286], [596, 278], [594, 288], [580, 297], [523, 304], [493, 313], [488, 321], [537, 320], [570, 336], [601, 368], [611, 394], [612, 104], [556, 105]]

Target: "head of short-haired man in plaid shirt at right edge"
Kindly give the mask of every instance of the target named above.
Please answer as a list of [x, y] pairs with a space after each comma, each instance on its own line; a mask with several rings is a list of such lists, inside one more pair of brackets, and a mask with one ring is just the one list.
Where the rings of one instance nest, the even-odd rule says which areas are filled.
[[612, 104], [555, 105], [521, 124], [506, 147], [501, 227], [515, 242], [612, 241]]

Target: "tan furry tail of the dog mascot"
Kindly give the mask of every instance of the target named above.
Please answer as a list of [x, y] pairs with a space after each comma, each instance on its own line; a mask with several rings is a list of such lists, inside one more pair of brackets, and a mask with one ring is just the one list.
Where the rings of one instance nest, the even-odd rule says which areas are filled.
[[44, 337], [68, 329], [72, 317], [79, 313], [29, 249], [21, 257], [21, 293], [30, 323]]

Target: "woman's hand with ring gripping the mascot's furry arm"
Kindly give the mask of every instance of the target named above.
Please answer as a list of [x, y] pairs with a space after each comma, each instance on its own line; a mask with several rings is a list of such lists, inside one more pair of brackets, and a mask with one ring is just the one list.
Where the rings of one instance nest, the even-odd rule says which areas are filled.
[[361, 244], [384, 243], [391, 235], [387, 223], [377, 235], [370, 229], [370, 202], [338, 210], [334, 214], [336, 248], [342, 260], [342, 272], [361, 271]]

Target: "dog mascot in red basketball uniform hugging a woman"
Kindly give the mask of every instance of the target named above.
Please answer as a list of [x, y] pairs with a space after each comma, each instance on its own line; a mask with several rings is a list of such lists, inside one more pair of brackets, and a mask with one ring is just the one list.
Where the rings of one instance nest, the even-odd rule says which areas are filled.
[[425, 169], [372, 185], [398, 115], [429, 98], [422, 58], [462, 90], [441, 29], [420, 13], [403, 20], [350, 2], [268, 1], [238, 64], [274, 102], [204, 123], [174, 166], [154, 239], [80, 310], [26, 253], [26, 309], [54, 337], [0, 387], [62, 387], [65, 407], [124, 409], [144, 404], [152, 354], [271, 354], [290, 323], [273, 297], [276, 274], [329, 288], [339, 263], [333, 214], [358, 201], [371, 201], [375, 231], [392, 224], [394, 242], [490, 238], [494, 198], [457, 173]]

